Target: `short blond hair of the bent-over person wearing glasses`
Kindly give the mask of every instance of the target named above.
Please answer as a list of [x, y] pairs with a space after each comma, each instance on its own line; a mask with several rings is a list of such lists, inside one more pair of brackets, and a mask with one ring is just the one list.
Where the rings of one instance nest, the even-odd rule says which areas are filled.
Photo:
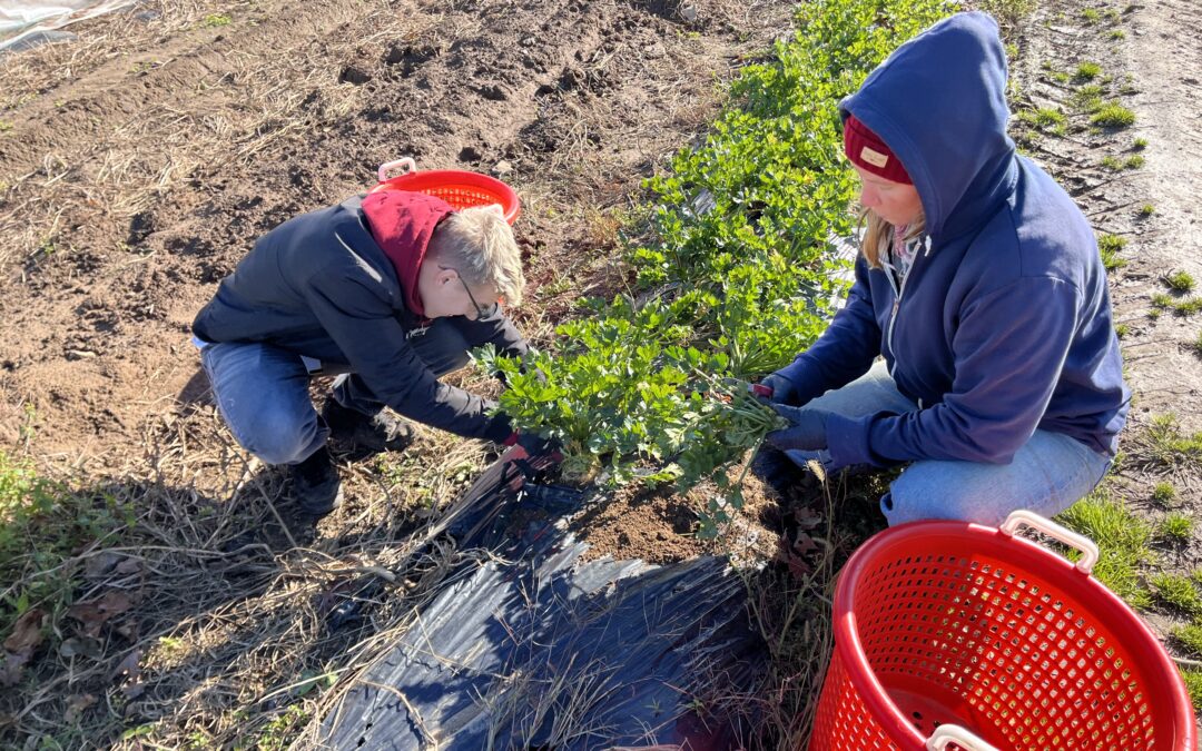
[[430, 251], [469, 285], [490, 285], [507, 304], [522, 304], [522, 251], [501, 207], [481, 205], [451, 214], [434, 231]]

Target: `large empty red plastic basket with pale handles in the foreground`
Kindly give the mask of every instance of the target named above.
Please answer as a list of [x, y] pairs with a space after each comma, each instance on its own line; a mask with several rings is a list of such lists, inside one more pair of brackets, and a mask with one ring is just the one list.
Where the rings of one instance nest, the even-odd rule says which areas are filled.
[[[1073, 565], [1014, 537], [1031, 525]], [[1097, 548], [1030, 512], [1001, 529], [916, 521], [851, 556], [810, 751], [1192, 751], [1194, 711], [1156, 637], [1090, 576]]]

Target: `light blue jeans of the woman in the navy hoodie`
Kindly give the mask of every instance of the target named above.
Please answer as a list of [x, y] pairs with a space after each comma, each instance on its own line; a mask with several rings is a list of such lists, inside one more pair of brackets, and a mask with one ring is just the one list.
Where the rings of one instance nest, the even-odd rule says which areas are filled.
[[[881, 410], [912, 412], [882, 360], [843, 388], [807, 407], [847, 417]], [[803, 464], [811, 452], [786, 452]], [[1060, 433], [1036, 430], [1005, 465], [924, 459], [902, 471], [881, 499], [891, 526], [917, 519], [962, 519], [996, 526], [1017, 508], [1053, 517], [1088, 494], [1109, 469], [1111, 458]]]

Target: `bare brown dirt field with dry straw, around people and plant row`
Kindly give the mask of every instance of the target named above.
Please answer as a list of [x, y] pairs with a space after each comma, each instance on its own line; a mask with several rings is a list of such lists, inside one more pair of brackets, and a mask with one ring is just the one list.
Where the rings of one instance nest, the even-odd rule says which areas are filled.
[[[232, 445], [189, 344], [258, 234], [362, 191], [398, 156], [501, 175], [522, 196], [532, 287], [516, 317], [545, 341], [578, 298], [618, 287], [639, 180], [787, 29], [787, 4], [770, 1], [157, 0], [0, 56], [0, 449], [137, 517], [136, 547], [81, 552], [77, 600], [125, 600], [88, 633], [59, 634], [79, 651], [26, 668], [30, 693], [0, 701], [0, 745], [282, 747], [319, 711], [313, 695], [285, 701], [297, 683], [351, 672], [446, 574], [451, 550], [406, 562], [412, 596], [322, 628], [356, 577], [407, 561], [493, 454], [426, 431], [401, 457], [345, 461], [347, 502], [316, 530], [281, 524], [282, 477]], [[1168, 478], [1197, 518], [1202, 470], [1143, 461], [1138, 436], [1168, 412], [1202, 430], [1202, 316], [1154, 302], [1173, 272], [1202, 281], [1202, 8], [1053, 1], [1017, 31], [1017, 101], [1069, 113], [1064, 135], [1033, 130], [1024, 149], [1100, 233], [1127, 240], [1112, 291], [1133, 460], [1115, 491], [1156, 519], [1152, 489]], [[1085, 61], [1133, 127], [1095, 131], [1073, 109], [1079, 85], [1054, 73]], [[762, 538], [779, 513], [755, 497]], [[660, 495], [599, 507], [578, 534], [599, 553], [670, 561], [704, 549], [689, 530], [688, 507]], [[1194, 538], [1161, 565], [1200, 562]], [[1174, 622], [1150, 616], [1166, 633]]]

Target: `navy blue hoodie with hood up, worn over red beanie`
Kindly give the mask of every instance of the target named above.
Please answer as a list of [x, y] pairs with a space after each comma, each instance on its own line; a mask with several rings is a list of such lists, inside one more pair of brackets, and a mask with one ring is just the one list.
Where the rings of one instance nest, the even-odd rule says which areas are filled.
[[1007, 464], [1036, 428], [1115, 451], [1130, 392], [1097, 243], [1072, 198], [1016, 154], [1005, 94], [998, 26], [974, 12], [903, 44], [840, 105], [906, 168], [929, 244], [900, 294], [861, 257], [846, 306], [780, 371], [811, 399], [883, 354], [917, 403], [832, 416], [837, 465]]

